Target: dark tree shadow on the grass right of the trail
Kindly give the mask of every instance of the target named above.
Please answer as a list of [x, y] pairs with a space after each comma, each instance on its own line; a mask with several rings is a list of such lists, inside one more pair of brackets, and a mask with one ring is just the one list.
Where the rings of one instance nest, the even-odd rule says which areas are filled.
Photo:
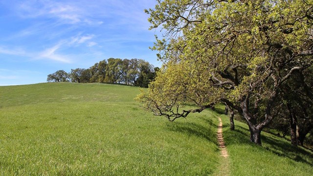
[[[242, 145], [247, 144], [250, 146], [255, 146], [254, 143], [250, 142], [250, 132], [248, 129], [236, 126], [235, 131], [230, 131], [229, 129], [225, 130], [224, 135], [226, 136], [226, 145]], [[305, 151], [302, 148], [293, 147], [290, 142], [284, 138], [276, 139], [272, 134], [268, 133], [265, 136], [265, 132], [261, 134], [262, 144], [265, 150], [276, 154], [278, 156], [287, 157], [296, 162], [303, 162], [313, 166], [313, 154]]]

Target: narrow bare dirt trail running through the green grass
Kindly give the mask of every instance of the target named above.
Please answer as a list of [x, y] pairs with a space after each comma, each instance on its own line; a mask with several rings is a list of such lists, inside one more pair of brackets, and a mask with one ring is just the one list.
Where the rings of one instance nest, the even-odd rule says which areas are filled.
[[230, 171], [229, 171], [229, 158], [228, 158], [228, 153], [226, 150], [224, 138], [223, 138], [223, 123], [221, 117], [219, 117], [219, 126], [218, 126], [218, 131], [217, 131], [217, 140], [219, 144], [219, 148], [221, 150], [221, 164], [219, 166], [219, 172], [216, 174], [216, 176], [229, 176]]

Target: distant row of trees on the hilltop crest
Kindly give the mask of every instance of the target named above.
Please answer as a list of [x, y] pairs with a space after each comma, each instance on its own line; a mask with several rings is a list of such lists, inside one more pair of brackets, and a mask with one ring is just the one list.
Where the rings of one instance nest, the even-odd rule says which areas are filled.
[[110, 83], [148, 87], [158, 67], [142, 59], [114, 59], [100, 61], [89, 68], [58, 70], [47, 76], [47, 82]]

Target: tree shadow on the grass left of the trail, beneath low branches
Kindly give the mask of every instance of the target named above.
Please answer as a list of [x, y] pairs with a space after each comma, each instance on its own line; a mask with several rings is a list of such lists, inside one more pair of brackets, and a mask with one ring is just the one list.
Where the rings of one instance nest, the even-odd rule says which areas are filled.
[[218, 145], [216, 140], [217, 125], [211, 119], [200, 118], [205, 122], [205, 126], [193, 122], [174, 122], [166, 125], [167, 129], [172, 132], [181, 132], [188, 136], [197, 136], [204, 138]]

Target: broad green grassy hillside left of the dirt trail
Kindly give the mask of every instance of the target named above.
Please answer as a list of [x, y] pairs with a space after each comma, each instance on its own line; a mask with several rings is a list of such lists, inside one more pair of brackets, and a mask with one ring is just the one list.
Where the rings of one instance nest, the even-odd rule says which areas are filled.
[[168, 122], [138, 88], [45, 83], [0, 87], [0, 175], [218, 173], [216, 112]]

